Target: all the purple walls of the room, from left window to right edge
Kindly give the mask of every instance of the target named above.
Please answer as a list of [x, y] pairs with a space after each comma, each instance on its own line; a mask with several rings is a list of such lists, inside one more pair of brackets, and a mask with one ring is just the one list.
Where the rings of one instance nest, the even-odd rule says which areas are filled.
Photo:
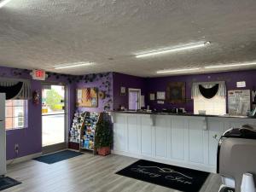
[[[29, 71], [22, 69], [14, 69], [9, 67], [0, 67], [0, 76], [14, 79], [31, 79]], [[168, 82], [185, 82], [186, 83], [186, 97], [191, 98], [191, 85], [193, 82], [201, 81], [219, 81], [224, 80], [227, 84], [228, 90], [237, 89], [237, 81], [246, 81], [247, 87], [244, 89], [252, 90], [256, 87], [256, 70], [241, 71], [241, 72], [227, 72], [227, 73], [208, 73], [208, 74], [195, 74], [183, 75], [164, 78], [151, 78], [145, 79], [121, 73], [100, 73], [85, 75], [80, 77], [79, 82], [70, 83], [70, 77], [61, 76], [56, 78], [51, 75], [46, 82], [61, 82], [67, 84], [67, 97], [68, 97], [68, 126], [73, 119], [73, 113], [77, 109], [76, 102], [76, 88], [81, 87], [98, 87], [107, 93], [108, 97], [104, 100], [99, 99], [98, 108], [79, 108], [79, 110], [87, 110], [94, 112], [102, 112], [106, 105], [109, 105], [110, 110], [119, 108], [119, 105], [128, 108], [128, 88], [141, 89], [142, 95], [146, 98], [146, 105], [150, 108], [186, 108], [188, 112], [193, 112], [193, 101], [189, 100], [183, 104], [170, 104], [163, 105], [156, 102], [148, 101], [148, 94], [156, 91], [166, 91], [166, 84]], [[109, 83], [106, 86], [106, 82]], [[40, 92], [42, 86], [41, 81], [32, 80], [32, 91], [38, 90]], [[120, 87], [126, 88], [126, 95], [120, 96]], [[28, 127], [26, 129], [7, 131], [7, 158], [8, 160], [17, 158], [15, 156], [15, 143], [20, 146], [18, 157], [28, 154], [36, 154], [42, 151], [42, 123], [41, 123], [41, 105], [34, 105], [32, 101], [28, 102]]]

